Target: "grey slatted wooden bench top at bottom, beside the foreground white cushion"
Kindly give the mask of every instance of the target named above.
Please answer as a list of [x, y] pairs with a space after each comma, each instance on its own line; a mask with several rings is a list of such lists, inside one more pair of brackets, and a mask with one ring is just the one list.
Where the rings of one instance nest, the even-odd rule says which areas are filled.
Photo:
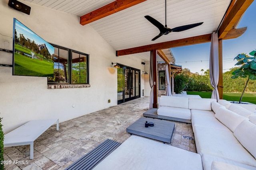
[[121, 143], [107, 139], [65, 170], [91, 170], [119, 147], [119, 145]]

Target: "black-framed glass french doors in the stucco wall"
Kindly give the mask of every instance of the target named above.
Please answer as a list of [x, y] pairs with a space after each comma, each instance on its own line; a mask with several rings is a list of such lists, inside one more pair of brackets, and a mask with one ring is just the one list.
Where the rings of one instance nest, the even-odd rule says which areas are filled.
[[120, 65], [117, 69], [118, 104], [140, 97], [140, 70]]

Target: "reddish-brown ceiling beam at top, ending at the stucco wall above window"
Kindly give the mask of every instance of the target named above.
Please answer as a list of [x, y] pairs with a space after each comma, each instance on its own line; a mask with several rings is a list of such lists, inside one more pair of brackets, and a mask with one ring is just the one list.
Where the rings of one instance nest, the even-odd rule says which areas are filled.
[[94, 10], [93, 12], [90, 12], [88, 14], [81, 16], [80, 24], [86, 25], [88, 23], [99, 20], [101, 18], [104, 18], [104, 17], [114, 14], [116, 12], [119, 12], [121, 10], [129, 8], [131, 6], [140, 4], [141, 2], [144, 2], [144, 1], [146, 1], [146, 0], [116, 0], [110, 4], [107, 4], [99, 9], [97, 9], [97, 10]]

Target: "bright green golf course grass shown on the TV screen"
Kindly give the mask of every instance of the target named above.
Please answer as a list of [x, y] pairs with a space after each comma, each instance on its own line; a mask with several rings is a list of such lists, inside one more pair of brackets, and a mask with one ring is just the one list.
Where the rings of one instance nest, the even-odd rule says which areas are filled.
[[53, 63], [15, 53], [14, 75], [53, 77]]

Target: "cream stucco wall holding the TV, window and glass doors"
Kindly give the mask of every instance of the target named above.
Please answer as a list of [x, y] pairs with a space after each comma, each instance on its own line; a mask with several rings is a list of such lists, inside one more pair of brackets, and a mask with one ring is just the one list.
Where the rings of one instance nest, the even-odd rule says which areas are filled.
[[[47, 78], [12, 76], [12, 68], [0, 66], [0, 117], [5, 133], [33, 119], [59, 118], [62, 122], [115, 106], [117, 72], [111, 62], [138, 68], [142, 74], [141, 59], [136, 55], [116, 57], [115, 49], [90, 25], [80, 25], [79, 17], [20, 1], [31, 7], [30, 15], [10, 8], [8, 0], [0, 1], [0, 48], [12, 50], [16, 18], [50, 43], [88, 53], [91, 87], [48, 89]], [[12, 64], [12, 54], [1, 51], [0, 64]]]

